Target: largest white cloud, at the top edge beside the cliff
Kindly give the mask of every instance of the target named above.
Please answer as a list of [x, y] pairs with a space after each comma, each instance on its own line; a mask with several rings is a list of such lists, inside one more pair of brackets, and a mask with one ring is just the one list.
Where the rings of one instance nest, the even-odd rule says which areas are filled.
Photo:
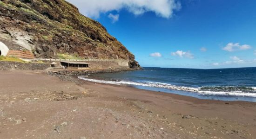
[[99, 18], [100, 13], [127, 9], [135, 15], [154, 12], [157, 16], [171, 18], [181, 8], [176, 0], [67, 0], [77, 6], [82, 14]]

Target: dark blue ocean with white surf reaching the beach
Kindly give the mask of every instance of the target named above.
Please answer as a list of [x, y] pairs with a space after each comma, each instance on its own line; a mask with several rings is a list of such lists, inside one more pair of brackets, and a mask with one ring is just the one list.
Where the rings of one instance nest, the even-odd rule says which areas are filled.
[[232, 69], [144, 67], [144, 70], [140, 71], [93, 74], [79, 78], [199, 99], [256, 102], [256, 67]]

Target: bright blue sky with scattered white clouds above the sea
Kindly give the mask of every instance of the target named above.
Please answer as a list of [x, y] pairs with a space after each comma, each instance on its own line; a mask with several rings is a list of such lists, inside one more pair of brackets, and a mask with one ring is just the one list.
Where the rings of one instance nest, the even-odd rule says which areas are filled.
[[144, 67], [256, 67], [256, 0], [67, 0]]

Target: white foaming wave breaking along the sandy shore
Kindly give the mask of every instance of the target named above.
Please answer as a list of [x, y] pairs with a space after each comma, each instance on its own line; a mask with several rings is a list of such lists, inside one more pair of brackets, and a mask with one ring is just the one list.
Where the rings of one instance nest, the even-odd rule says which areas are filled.
[[201, 88], [192, 88], [192, 87], [184, 87], [184, 86], [176, 86], [169, 83], [162, 82], [131, 82], [131, 81], [104, 81], [104, 80], [96, 80], [86, 78], [85, 76], [78, 76], [79, 79], [90, 81], [90, 82], [98, 82], [98, 83], [106, 83], [106, 84], [115, 84], [115, 85], [136, 85], [136, 86], [146, 86], [146, 87], [155, 87], [155, 88], [167, 88], [172, 90], [182, 90], [195, 92], [200, 95], [221, 95], [221, 96], [249, 96], [256, 97], [256, 87], [201, 87]]

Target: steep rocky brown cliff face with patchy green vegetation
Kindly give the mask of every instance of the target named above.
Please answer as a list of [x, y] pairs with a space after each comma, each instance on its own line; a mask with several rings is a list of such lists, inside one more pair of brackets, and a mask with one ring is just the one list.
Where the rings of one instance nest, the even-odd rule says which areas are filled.
[[86, 59], [135, 58], [104, 26], [65, 0], [0, 0], [1, 40], [41, 58], [63, 53]]

